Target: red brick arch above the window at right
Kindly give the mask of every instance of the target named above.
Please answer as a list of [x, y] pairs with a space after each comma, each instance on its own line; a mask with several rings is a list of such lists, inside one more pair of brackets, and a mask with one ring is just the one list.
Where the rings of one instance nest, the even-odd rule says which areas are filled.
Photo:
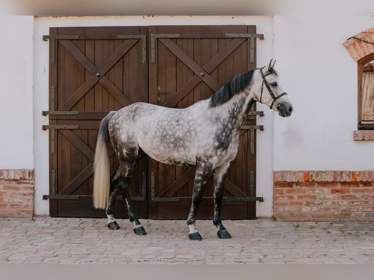
[[348, 38], [343, 45], [354, 61], [374, 53], [374, 28], [360, 32]]

